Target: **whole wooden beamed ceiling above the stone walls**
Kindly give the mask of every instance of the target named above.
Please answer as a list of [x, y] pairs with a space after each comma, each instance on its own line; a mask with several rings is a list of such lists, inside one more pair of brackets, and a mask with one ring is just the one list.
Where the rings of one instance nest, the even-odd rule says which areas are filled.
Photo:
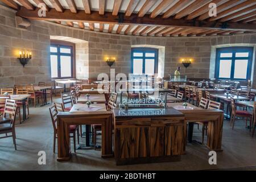
[[[113, 34], [210, 36], [256, 32], [255, 0], [112, 0], [111, 12], [105, 0], [93, 0], [98, 1], [98, 11], [92, 9], [92, 0], [81, 0], [79, 5], [74, 0], [0, 1], [23, 18]], [[46, 17], [38, 16], [36, 5], [40, 3], [46, 4]], [[209, 3], [216, 3], [217, 16], [209, 17]]]

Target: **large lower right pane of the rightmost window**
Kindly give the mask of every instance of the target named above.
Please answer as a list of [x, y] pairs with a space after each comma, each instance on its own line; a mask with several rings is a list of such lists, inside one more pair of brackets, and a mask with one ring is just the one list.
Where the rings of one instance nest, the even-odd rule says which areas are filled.
[[236, 60], [234, 69], [234, 78], [246, 79], [248, 60]]

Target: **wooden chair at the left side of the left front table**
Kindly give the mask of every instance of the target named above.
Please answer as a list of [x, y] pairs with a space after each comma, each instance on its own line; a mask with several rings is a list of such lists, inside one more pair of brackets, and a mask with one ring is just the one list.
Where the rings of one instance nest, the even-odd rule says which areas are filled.
[[[53, 105], [49, 108], [49, 112], [52, 119], [52, 126], [53, 126], [53, 153], [55, 153], [55, 146], [56, 146], [56, 139], [57, 139], [57, 108], [56, 105]], [[77, 131], [77, 143], [79, 143], [79, 130], [77, 125], [69, 125], [69, 138], [73, 138], [74, 143], [74, 151], [76, 152], [76, 131]], [[72, 134], [72, 136], [70, 135]]]

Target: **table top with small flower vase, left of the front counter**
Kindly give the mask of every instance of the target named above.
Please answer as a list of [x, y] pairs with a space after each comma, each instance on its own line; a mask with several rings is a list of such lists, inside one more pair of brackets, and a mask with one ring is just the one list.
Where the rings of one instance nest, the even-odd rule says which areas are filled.
[[111, 111], [106, 110], [105, 104], [91, 104], [90, 107], [101, 107], [101, 109], [96, 111], [85, 111], [84, 109], [87, 107], [86, 104], [74, 104], [72, 109], [68, 112], [68, 114], [98, 114], [98, 113], [109, 113]]

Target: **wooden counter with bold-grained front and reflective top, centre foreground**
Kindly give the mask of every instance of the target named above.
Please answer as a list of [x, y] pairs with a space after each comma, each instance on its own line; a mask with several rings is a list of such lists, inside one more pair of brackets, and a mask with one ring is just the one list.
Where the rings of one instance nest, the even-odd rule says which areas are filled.
[[184, 114], [169, 108], [114, 109], [117, 165], [170, 162], [185, 152]]

